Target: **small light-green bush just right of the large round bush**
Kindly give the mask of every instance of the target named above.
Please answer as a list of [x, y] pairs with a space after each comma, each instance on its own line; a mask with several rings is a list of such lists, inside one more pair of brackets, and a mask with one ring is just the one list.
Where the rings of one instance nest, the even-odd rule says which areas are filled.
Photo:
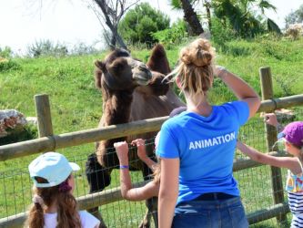
[[153, 33], [152, 36], [167, 47], [180, 44], [188, 36], [187, 26], [184, 20], [179, 19], [170, 28]]

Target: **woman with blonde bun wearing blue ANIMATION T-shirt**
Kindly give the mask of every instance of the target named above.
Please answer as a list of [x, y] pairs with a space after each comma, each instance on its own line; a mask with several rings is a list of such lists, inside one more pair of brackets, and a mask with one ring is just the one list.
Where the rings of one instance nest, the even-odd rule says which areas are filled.
[[[258, 110], [253, 88], [214, 66], [215, 53], [198, 38], [180, 52], [174, 76], [187, 110], [162, 125], [157, 156], [161, 159], [158, 224], [168, 227], [247, 227], [233, 177], [237, 131]], [[212, 105], [207, 91], [214, 76], [239, 100]]]

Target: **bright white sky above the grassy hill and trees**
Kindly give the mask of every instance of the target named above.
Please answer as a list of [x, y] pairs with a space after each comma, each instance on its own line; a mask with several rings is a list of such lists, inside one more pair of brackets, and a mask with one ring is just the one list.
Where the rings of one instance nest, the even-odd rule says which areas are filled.
[[[28, 45], [49, 39], [67, 47], [85, 43], [102, 48], [103, 28], [87, 7], [87, 1], [0, 0], [0, 47], [11, 47], [15, 53], [22, 55]], [[170, 16], [172, 22], [183, 16], [182, 12], [171, 10], [167, 0], [143, 1]], [[282, 28], [285, 16], [303, 4], [302, 0], [270, 2], [277, 6], [277, 13], [271, 11], [266, 15]]]

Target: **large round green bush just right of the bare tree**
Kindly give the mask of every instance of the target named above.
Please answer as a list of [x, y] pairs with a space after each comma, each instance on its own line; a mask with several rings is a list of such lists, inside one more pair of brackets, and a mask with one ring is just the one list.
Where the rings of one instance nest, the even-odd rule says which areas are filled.
[[142, 3], [128, 11], [120, 22], [118, 31], [129, 44], [146, 43], [152, 46], [158, 41], [152, 34], [168, 27], [167, 15], [155, 10], [147, 3]]

